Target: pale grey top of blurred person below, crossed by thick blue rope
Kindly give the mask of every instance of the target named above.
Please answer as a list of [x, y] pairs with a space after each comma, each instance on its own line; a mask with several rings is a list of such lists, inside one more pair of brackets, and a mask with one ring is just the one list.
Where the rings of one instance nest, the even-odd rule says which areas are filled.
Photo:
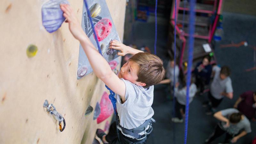
[[[177, 98], [177, 101], [182, 105], [186, 105], [187, 88], [183, 87], [182, 89], [178, 90], [178, 88], [175, 87], [174, 90], [174, 96]], [[192, 83], [189, 88], [189, 103], [193, 100], [195, 94], [196, 84]]]

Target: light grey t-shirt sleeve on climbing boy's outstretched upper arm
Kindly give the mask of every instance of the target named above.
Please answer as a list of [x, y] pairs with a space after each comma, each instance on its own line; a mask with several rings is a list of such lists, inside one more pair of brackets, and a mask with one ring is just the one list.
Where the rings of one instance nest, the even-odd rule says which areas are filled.
[[122, 101], [120, 99], [119, 95], [116, 95], [116, 101], [124, 106], [124, 107], [129, 107], [130, 105], [132, 105], [132, 103], [134, 102], [134, 100], [136, 99], [136, 92], [138, 92], [138, 88], [132, 84], [130, 81], [124, 80], [121, 78], [121, 80], [124, 82], [125, 84], [125, 102], [122, 104]]

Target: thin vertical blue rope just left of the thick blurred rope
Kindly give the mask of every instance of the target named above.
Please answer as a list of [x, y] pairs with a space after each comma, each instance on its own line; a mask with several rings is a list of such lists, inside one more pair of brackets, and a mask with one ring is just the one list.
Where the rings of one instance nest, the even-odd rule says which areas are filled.
[[[173, 117], [175, 117], [175, 67], [176, 67], [176, 25], [177, 25], [177, 18], [176, 18], [176, 9], [177, 9], [177, 0], [175, 0], [175, 4], [174, 4], [174, 68], [173, 68]], [[176, 139], [175, 139], [175, 124], [173, 123], [173, 144], [176, 143]]]

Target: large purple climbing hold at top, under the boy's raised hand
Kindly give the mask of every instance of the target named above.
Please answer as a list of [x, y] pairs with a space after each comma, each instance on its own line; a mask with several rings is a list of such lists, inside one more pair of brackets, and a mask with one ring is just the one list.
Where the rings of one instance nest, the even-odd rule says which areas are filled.
[[65, 20], [60, 4], [69, 4], [67, 0], [49, 0], [42, 6], [42, 21], [44, 28], [52, 33], [60, 28]]

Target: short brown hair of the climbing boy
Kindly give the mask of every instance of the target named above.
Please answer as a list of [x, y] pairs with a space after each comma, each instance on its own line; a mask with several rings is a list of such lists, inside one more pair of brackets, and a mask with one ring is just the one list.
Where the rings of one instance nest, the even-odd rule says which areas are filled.
[[147, 88], [157, 84], [164, 79], [165, 70], [163, 61], [154, 54], [147, 52], [139, 52], [132, 56], [129, 61], [133, 61], [139, 65], [137, 82], [145, 83]]

